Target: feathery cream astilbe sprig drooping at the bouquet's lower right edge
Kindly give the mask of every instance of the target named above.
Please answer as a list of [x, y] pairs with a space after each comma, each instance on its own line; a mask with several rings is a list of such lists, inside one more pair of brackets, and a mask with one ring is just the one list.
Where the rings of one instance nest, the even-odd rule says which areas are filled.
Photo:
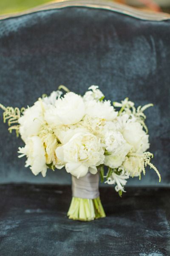
[[140, 168], [142, 169], [144, 175], [146, 173], [145, 167], [150, 166], [150, 169], [152, 168], [157, 173], [159, 177], [159, 182], [161, 182], [161, 175], [158, 169], [156, 168], [156, 166], [153, 165], [153, 163], [150, 163], [151, 159], [153, 158], [152, 153], [150, 153], [149, 151], [144, 152], [142, 155], [131, 153], [130, 156], [137, 157], [139, 159]]

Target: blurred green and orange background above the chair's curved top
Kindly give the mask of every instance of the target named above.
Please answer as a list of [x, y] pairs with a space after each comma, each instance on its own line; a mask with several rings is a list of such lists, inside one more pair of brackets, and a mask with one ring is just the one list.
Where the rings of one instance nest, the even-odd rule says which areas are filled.
[[[109, 0], [105, 0], [106, 2]], [[110, 0], [111, 1], [111, 0]], [[138, 9], [170, 13], [170, 0], [112, 0]], [[0, 0], [0, 15], [21, 12], [51, 0]], [[60, 2], [60, 0], [52, 1]]]

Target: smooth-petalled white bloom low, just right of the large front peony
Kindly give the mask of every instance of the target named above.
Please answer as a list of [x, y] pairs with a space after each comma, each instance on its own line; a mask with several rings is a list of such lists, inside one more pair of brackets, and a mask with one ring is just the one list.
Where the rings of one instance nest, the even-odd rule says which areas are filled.
[[122, 162], [125, 160], [126, 155], [129, 153], [131, 146], [128, 143], [124, 143], [110, 155], [105, 156], [104, 164], [110, 168], [118, 168], [122, 165]]

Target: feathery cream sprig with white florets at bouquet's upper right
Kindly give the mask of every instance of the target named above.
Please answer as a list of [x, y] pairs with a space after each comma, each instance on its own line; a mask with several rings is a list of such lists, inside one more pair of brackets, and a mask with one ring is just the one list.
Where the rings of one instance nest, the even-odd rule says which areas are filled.
[[119, 102], [113, 102], [113, 106], [117, 108], [121, 108], [119, 111], [119, 116], [122, 114], [128, 114], [130, 119], [135, 120], [136, 122], [139, 122], [143, 128], [145, 129], [146, 133], [148, 133], [147, 126], [144, 122], [146, 119], [145, 114], [143, 113], [147, 108], [153, 107], [153, 104], [146, 104], [143, 107], [139, 106], [138, 108], [135, 108], [135, 105], [133, 102], [129, 101], [128, 98], [125, 98], [124, 100]]

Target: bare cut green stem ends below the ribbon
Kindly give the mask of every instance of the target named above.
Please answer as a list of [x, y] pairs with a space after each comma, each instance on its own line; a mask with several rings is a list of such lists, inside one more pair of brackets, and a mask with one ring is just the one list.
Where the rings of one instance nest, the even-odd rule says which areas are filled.
[[95, 199], [72, 197], [67, 215], [68, 218], [79, 221], [92, 221], [106, 216], [99, 197]]

